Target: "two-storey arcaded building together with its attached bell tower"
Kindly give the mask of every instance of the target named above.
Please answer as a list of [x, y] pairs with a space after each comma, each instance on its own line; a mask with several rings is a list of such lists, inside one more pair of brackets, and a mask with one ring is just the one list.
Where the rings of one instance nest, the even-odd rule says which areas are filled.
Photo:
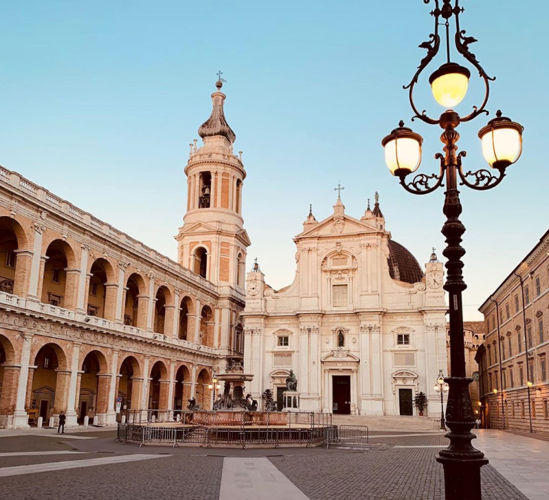
[[67, 413], [210, 408], [208, 383], [243, 351], [245, 170], [221, 81], [191, 146], [178, 262], [0, 168], [0, 427]]

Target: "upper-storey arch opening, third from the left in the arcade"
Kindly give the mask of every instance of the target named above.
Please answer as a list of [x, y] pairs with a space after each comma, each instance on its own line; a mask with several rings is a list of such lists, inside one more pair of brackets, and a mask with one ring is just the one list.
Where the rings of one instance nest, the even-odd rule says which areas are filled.
[[90, 263], [88, 273], [91, 276], [87, 287], [87, 314], [114, 320], [118, 286], [113, 265], [100, 257]]

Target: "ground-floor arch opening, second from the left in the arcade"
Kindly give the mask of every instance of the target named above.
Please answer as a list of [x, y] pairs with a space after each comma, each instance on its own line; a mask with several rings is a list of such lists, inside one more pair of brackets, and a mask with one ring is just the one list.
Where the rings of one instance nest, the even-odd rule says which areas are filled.
[[70, 379], [67, 356], [60, 345], [46, 341], [36, 345], [30, 359], [36, 367], [27, 384], [31, 387], [30, 407], [36, 408], [38, 416], [47, 422], [50, 417], [67, 411]]

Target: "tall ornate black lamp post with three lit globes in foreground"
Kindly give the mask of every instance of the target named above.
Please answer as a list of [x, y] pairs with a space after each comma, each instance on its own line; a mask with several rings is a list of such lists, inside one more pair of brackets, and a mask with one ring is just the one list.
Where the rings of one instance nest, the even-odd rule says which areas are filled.
[[[430, 0], [423, 0], [429, 3]], [[420, 47], [427, 50], [427, 54], [412, 77], [409, 85], [410, 105], [415, 113], [414, 119], [427, 124], [439, 125], [442, 128], [440, 140], [444, 146], [442, 153], [436, 153], [435, 158], [440, 162], [440, 171], [432, 175], [418, 174], [411, 181], [408, 175], [416, 171], [421, 163], [421, 144], [423, 138], [418, 133], [404, 127], [404, 122], [394, 129], [381, 141], [385, 148], [385, 162], [392, 175], [399, 177], [400, 184], [406, 191], [414, 195], [432, 193], [445, 183], [445, 203], [442, 209], [446, 215], [442, 226], [442, 235], [445, 236], [447, 247], [444, 256], [447, 258], [447, 280], [444, 289], [449, 294], [449, 323], [450, 323], [450, 366], [451, 377], [445, 378], [449, 384], [449, 395], [446, 408], [446, 424], [450, 431], [448, 448], [440, 450], [437, 461], [444, 467], [445, 493], [447, 500], [480, 500], [480, 468], [488, 463], [480, 450], [473, 448], [471, 440], [475, 437], [471, 429], [475, 424], [475, 413], [469, 395], [469, 384], [472, 378], [467, 377], [465, 371], [464, 338], [463, 338], [463, 310], [462, 292], [467, 288], [463, 281], [461, 258], [465, 250], [460, 245], [465, 227], [459, 217], [462, 206], [458, 191], [460, 186], [467, 186], [476, 190], [491, 189], [502, 182], [506, 169], [515, 163], [522, 152], [522, 125], [502, 116], [497, 111], [496, 117], [480, 129], [478, 136], [482, 143], [482, 153], [489, 163], [489, 169], [478, 171], [464, 171], [462, 158], [465, 151], [458, 153], [457, 142], [460, 138], [458, 125], [469, 122], [486, 111], [489, 97], [491, 78], [486, 74], [474, 54], [469, 52], [469, 45], [476, 40], [472, 36], [465, 36], [460, 28], [460, 14], [463, 9], [459, 0], [434, 0], [435, 8], [431, 14], [434, 17], [434, 32], [429, 40], [421, 43]], [[442, 18], [442, 19], [441, 19]], [[429, 78], [434, 98], [440, 105], [455, 107], [464, 98], [469, 85], [471, 72], [450, 61], [450, 22], [455, 25], [453, 44], [459, 52], [478, 72], [484, 82], [484, 98], [479, 106], [473, 107], [471, 113], [460, 116], [453, 109], [446, 109], [440, 118], [427, 116], [426, 111], [418, 111], [414, 103], [413, 92], [418, 77], [425, 67], [431, 63], [441, 45], [439, 26], [445, 27], [447, 63], [440, 66]]]

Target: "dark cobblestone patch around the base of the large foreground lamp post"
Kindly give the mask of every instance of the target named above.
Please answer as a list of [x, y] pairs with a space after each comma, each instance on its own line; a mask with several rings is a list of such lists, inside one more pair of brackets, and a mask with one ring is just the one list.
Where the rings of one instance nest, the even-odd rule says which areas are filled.
[[[436, 453], [433, 448], [388, 448], [269, 459], [310, 500], [443, 500]], [[484, 500], [527, 500], [493, 467], [481, 470]]]

